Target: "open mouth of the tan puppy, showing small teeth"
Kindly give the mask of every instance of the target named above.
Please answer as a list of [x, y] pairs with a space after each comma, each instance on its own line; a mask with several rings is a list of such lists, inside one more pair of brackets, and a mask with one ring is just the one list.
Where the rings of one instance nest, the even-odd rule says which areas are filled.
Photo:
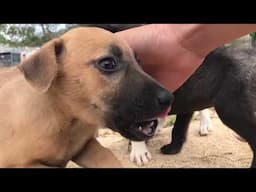
[[138, 131], [145, 136], [152, 137], [155, 134], [158, 125], [157, 119], [149, 121], [141, 121], [136, 123]]

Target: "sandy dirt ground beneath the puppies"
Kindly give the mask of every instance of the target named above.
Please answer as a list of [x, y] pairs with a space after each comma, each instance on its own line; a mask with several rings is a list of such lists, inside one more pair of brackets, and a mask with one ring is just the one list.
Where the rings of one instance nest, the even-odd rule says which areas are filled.
[[[187, 142], [177, 155], [160, 153], [161, 146], [170, 142], [172, 127], [162, 128], [148, 143], [153, 159], [142, 168], [248, 168], [252, 159], [248, 144], [234, 137], [233, 131], [227, 128], [213, 111], [211, 118], [213, 130], [203, 137], [198, 134], [199, 120], [192, 121]], [[127, 139], [109, 129], [102, 129], [98, 140], [113, 151], [124, 167], [138, 167], [129, 161]], [[70, 163], [68, 167], [76, 165]]]

